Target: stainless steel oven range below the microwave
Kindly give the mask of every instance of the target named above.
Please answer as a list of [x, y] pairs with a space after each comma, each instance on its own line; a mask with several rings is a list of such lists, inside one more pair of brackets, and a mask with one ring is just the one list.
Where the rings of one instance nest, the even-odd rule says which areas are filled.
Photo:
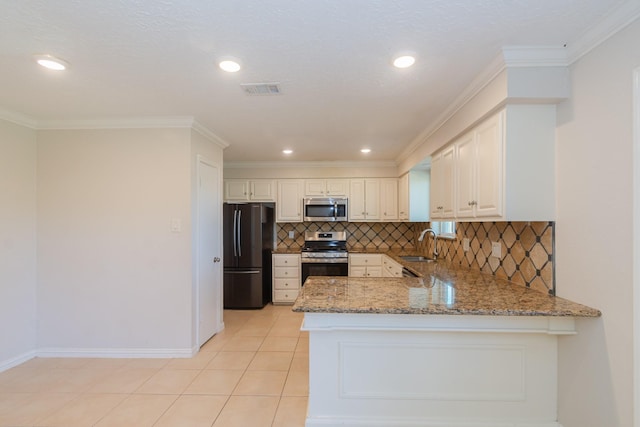
[[301, 262], [303, 285], [309, 276], [347, 276], [346, 231], [305, 231]]

